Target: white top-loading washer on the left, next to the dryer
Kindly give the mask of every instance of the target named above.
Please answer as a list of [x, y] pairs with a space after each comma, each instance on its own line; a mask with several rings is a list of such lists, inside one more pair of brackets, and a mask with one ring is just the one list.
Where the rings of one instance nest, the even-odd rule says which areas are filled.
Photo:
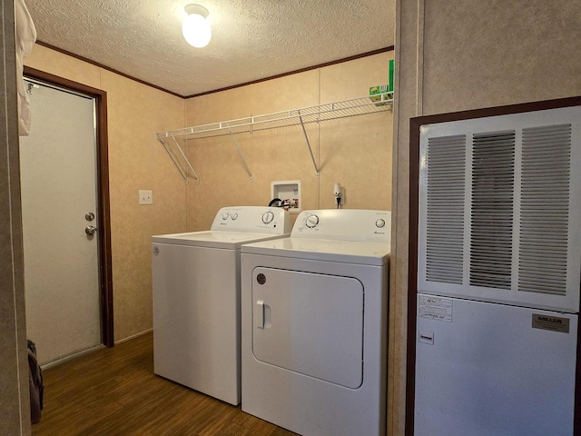
[[222, 208], [211, 230], [152, 237], [154, 372], [241, 401], [241, 244], [291, 233], [276, 207]]

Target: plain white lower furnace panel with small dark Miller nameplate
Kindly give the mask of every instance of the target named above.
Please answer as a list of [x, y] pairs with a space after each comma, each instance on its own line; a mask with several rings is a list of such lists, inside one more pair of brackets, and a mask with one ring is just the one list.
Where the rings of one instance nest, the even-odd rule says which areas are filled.
[[418, 294], [414, 435], [573, 435], [577, 322]]

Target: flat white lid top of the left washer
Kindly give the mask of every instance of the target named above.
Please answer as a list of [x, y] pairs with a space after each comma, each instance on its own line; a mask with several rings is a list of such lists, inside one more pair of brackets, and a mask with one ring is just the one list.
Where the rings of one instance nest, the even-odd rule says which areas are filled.
[[152, 243], [171, 243], [173, 245], [191, 245], [196, 247], [240, 249], [243, 243], [254, 243], [280, 238], [273, 233], [250, 232], [214, 232], [211, 230], [192, 233], [173, 233], [152, 236]]

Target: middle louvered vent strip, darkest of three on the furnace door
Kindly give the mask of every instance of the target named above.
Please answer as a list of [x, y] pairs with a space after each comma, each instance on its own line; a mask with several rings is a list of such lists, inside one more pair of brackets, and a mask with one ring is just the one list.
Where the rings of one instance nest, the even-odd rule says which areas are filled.
[[515, 132], [475, 134], [472, 151], [470, 284], [511, 287]]

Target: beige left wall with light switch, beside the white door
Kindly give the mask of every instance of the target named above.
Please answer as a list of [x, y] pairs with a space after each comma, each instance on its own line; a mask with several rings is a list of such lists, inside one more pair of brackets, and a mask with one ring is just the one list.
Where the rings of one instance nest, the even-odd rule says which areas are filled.
[[[41, 45], [25, 64], [107, 93], [114, 339], [148, 331], [151, 236], [186, 226], [185, 185], [155, 132], [183, 126], [184, 101]], [[153, 190], [153, 205], [139, 205], [140, 189]]]

